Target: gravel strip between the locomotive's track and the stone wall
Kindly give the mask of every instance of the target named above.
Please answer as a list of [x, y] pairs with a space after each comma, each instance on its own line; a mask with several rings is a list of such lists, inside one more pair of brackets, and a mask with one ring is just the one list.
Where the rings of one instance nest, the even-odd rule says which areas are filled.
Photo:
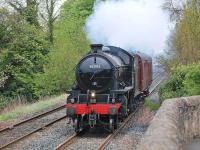
[[129, 150], [136, 149], [140, 143], [149, 122], [152, 120], [154, 113], [149, 109], [142, 107], [122, 129], [122, 131], [111, 141], [106, 150]]

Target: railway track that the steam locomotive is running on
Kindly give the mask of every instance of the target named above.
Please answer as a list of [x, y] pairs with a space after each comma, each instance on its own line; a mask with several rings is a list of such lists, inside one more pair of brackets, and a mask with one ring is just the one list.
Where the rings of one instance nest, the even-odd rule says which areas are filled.
[[[163, 81], [164, 77], [163, 77], [163, 73], [156, 75], [156, 77], [154, 78], [154, 83], [150, 89], [150, 95], [154, 92], [154, 90], [160, 85], [160, 83]], [[100, 144], [97, 146], [96, 149], [98, 150], [104, 150], [106, 148], [106, 146], [112, 141], [112, 139], [114, 137], [117, 136], [118, 133], [120, 133], [120, 131], [125, 127], [125, 125], [135, 116], [135, 113], [140, 109], [140, 107], [138, 107], [137, 110], [135, 110], [135, 112], [133, 112], [132, 114], [130, 114], [121, 124], [120, 127], [115, 130], [112, 134], [108, 134], [104, 140], [101, 140]], [[83, 137], [83, 135], [86, 133], [85, 130], [81, 131], [80, 133], [74, 134], [71, 137], [69, 137], [68, 139], [66, 139], [63, 143], [61, 143], [60, 145], [58, 145], [55, 150], [64, 150], [67, 149], [68, 147], [70, 147], [71, 145], [75, 144], [78, 140], [80, 140], [80, 138]]]

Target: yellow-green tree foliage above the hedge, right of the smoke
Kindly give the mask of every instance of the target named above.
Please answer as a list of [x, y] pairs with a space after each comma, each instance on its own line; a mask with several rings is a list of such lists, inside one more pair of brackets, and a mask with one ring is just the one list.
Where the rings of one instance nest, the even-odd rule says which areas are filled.
[[191, 64], [199, 60], [200, 13], [195, 0], [188, 2], [177, 22], [174, 37], [176, 59], [180, 64]]

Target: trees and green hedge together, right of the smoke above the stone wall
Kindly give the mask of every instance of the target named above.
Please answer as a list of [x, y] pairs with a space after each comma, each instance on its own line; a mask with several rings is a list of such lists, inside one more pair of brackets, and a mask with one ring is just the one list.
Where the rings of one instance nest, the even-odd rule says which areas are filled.
[[168, 5], [171, 1], [165, 1], [164, 8], [169, 10], [176, 25], [165, 55], [159, 57], [169, 76], [169, 81], [160, 88], [162, 101], [200, 94], [200, 4], [187, 0], [182, 7], [172, 10]]

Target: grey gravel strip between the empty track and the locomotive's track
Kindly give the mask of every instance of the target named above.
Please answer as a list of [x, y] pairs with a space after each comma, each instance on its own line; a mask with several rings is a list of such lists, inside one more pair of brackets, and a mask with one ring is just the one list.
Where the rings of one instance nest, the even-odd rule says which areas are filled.
[[22, 150], [53, 150], [72, 134], [74, 134], [72, 125], [67, 124], [66, 119], [63, 119], [40, 132], [34, 133], [25, 140], [9, 148]]

